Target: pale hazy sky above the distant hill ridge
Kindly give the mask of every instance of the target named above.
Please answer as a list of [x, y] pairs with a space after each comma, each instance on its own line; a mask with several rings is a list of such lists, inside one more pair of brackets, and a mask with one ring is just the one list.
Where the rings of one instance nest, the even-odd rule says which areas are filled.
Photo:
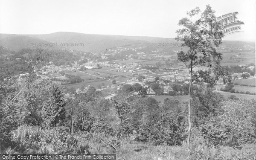
[[80, 32], [174, 38], [186, 12], [210, 4], [220, 16], [239, 12], [244, 32], [224, 40], [255, 41], [255, 0], [0, 0], [0, 33]]

